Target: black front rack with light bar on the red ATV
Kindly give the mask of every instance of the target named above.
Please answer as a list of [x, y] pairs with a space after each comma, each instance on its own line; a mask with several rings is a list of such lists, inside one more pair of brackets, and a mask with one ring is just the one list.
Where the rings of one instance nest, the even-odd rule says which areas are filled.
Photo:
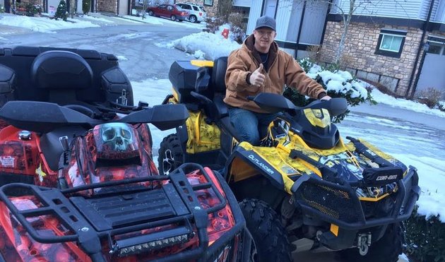
[[[201, 174], [206, 177], [208, 183], [196, 185], [189, 183], [186, 172], [196, 169], [199, 169]], [[218, 179], [222, 181], [222, 178], [218, 177]], [[85, 190], [122, 186], [143, 181], [150, 181], [152, 186], [148, 186], [146, 189], [136, 187], [133, 190], [119, 193], [117, 196], [99, 194], [86, 197], [76, 194]], [[165, 183], [166, 181], [169, 183]], [[158, 188], [153, 186], [156, 182], [160, 185]], [[221, 186], [224, 190], [228, 190], [224, 188], [224, 184], [221, 184]], [[8, 198], [8, 192], [18, 189], [28, 190], [30, 195], [35, 196], [43, 206], [29, 210], [18, 210], [11, 199]], [[194, 191], [202, 189], [213, 190], [220, 203], [208, 209], [202, 208], [194, 193]], [[169, 255], [159, 260], [206, 260], [209, 257], [205, 256], [213, 255], [215, 249], [220, 249], [225, 244], [224, 242], [227, 244], [231, 238], [235, 237], [235, 234], [239, 237], [244, 234], [244, 219], [239, 209], [234, 208], [237, 202], [229, 194], [226, 197], [230, 200], [236, 225], [229, 232], [225, 232], [223, 237], [218, 239], [218, 243], [215, 242], [208, 248], [208, 214], [223, 209], [227, 205], [227, 201], [215, 184], [212, 183], [206, 170], [200, 165], [184, 164], [169, 176], [107, 181], [65, 190], [19, 183], [7, 184], [0, 188], [1, 201], [6, 204], [11, 214], [17, 218], [33, 239], [41, 243], [77, 242], [93, 261], [105, 261], [104, 256], [102, 256], [101, 239], [108, 239], [109, 254], [128, 256], [142, 253], [142, 249], [150, 251], [172, 244], [188, 242], [195, 235], [193, 228], [196, 228], [198, 235], [199, 244], [196, 249], [182, 251], [179, 254]], [[66, 229], [70, 230], [71, 234], [64, 236], [43, 236], [39, 234], [27, 218], [41, 215], [53, 215]], [[157, 234], [158, 232], [154, 232], [127, 239], [113, 239], [117, 235], [172, 224], [177, 226], [162, 231], [162, 236]], [[163, 240], [160, 240], [161, 237], [163, 237]]]

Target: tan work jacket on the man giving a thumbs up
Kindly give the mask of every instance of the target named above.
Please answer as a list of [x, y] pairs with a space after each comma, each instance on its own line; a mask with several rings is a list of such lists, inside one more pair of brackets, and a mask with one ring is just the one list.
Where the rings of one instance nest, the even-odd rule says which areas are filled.
[[319, 99], [326, 95], [326, 90], [306, 75], [295, 59], [273, 42], [269, 49], [268, 71], [263, 70], [266, 80], [262, 86], [249, 85], [246, 81], [248, 75], [259, 68], [261, 57], [254, 48], [254, 35], [250, 35], [242, 47], [233, 51], [227, 61], [225, 73], [226, 93], [224, 102], [232, 107], [248, 109], [254, 112], [265, 113], [247, 96], [259, 93], [283, 94], [284, 86], [296, 88], [302, 95]]

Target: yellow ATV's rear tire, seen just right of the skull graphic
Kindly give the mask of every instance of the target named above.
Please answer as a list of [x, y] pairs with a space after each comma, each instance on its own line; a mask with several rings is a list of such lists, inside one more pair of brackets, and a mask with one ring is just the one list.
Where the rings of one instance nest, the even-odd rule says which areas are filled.
[[158, 155], [159, 174], [170, 174], [174, 169], [182, 165], [184, 154], [182, 153], [181, 143], [176, 133], [172, 133], [162, 139]]

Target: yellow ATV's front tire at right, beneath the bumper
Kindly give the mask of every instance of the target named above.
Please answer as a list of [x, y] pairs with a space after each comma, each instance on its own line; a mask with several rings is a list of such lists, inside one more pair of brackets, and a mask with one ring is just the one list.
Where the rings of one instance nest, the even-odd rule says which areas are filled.
[[340, 256], [345, 261], [376, 262], [398, 261], [398, 255], [402, 254], [403, 231], [400, 223], [388, 225], [386, 232], [377, 242], [369, 246], [366, 255], [361, 256], [357, 247], [340, 251]]

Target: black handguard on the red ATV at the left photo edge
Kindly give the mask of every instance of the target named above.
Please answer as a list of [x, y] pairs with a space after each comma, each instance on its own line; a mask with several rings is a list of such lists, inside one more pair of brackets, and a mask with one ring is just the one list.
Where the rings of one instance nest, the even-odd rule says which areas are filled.
[[100, 121], [73, 109], [36, 101], [9, 101], [1, 107], [0, 118], [18, 129], [37, 133], [47, 133], [67, 125], [100, 124]]

